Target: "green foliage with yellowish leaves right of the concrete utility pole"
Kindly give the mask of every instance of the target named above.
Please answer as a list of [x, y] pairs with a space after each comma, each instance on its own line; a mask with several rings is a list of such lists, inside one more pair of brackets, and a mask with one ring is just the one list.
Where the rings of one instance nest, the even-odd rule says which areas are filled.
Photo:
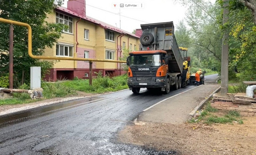
[[[219, 1], [219, 5], [222, 5], [222, 1]], [[230, 19], [228, 24], [222, 27], [230, 32], [230, 68], [233, 73], [238, 73], [240, 80], [256, 80], [255, 7], [255, 1], [253, 3], [251, 0], [230, 0]]]

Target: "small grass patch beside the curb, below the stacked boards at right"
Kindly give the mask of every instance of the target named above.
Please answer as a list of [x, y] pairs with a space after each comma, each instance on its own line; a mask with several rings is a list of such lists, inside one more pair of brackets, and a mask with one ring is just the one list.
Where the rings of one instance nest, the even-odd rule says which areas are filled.
[[215, 116], [214, 113], [218, 112], [218, 109], [215, 109], [210, 106], [210, 102], [208, 102], [201, 114], [197, 118], [192, 118], [188, 122], [189, 123], [202, 123], [213, 124], [213, 123], [230, 123], [233, 124], [234, 121], [239, 124], [243, 124], [242, 119], [240, 119], [240, 113], [237, 111], [229, 111], [224, 116]]

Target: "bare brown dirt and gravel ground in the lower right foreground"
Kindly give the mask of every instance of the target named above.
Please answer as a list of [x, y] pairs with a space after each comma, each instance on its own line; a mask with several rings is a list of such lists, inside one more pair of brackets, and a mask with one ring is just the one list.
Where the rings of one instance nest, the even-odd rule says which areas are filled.
[[128, 125], [119, 141], [179, 155], [256, 155], [256, 117], [244, 124], [147, 123]]

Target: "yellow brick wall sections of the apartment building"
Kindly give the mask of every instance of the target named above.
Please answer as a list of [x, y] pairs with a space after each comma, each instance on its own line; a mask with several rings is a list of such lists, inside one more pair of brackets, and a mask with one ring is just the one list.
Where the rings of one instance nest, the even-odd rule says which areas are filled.
[[[55, 11], [53, 14], [47, 14], [48, 18], [46, 21], [49, 23], [55, 23]], [[115, 51], [115, 60], [117, 59], [117, 45], [120, 46], [120, 36], [118, 32], [115, 32], [115, 41], [106, 41], [105, 39], [105, 29], [100, 25], [91, 23], [89, 21], [80, 20], [80, 18], [73, 17], [73, 34], [63, 33], [62, 37], [58, 39], [59, 44], [70, 45], [73, 46], [73, 57], [77, 57], [76, 53], [76, 23], [77, 23], [77, 41], [78, 47], [93, 49], [95, 50], [95, 59], [106, 59], [106, 50]], [[84, 38], [85, 29], [89, 30], [89, 40]], [[117, 40], [117, 36], [119, 36]], [[126, 34], [121, 38], [121, 46], [123, 46], [123, 41], [126, 42], [126, 49], [130, 47], [130, 43], [132, 44], [132, 49], [134, 50], [134, 45], [136, 45], [137, 50], [139, 50], [139, 38], [134, 36], [130, 36], [129, 44], [128, 37], [130, 35]], [[56, 56], [56, 46], [53, 48], [46, 47], [44, 56]], [[120, 52], [118, 53], [118, 57], [120, 57]], [[94, 62], [96, 64], [97, 69], [116, 69], [117, 63], [112, 62]], [[76, 68], [77, 61], [67, 61], [61, 60], [54, 65], [54, 68]]]

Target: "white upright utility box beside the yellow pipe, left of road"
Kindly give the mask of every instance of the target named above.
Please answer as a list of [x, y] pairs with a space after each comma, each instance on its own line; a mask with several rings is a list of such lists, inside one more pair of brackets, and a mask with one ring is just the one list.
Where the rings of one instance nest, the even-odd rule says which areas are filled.
[[30, 67], [30, 89], [41, 88], [41, 67]]

